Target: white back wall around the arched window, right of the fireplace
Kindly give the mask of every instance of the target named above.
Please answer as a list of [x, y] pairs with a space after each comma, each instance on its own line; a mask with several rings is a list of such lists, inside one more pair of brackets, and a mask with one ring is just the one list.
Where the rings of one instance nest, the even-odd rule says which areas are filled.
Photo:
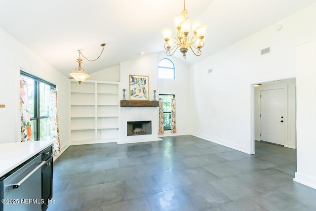
[[[180, 52], [178, 52], [180, 53]], [[158, 53], [157, 67], [161, 59], [171, 59], [175, 66], [175, 80], [158, 79], [158, 94], [174, 94], [176, 101], [176, 126], [177, 132], [171, 133], [170, 130], [164, 131], [161, 136], [187, 135], [190, 134], [190, 86], [189, 86], [189, 66], [175, 57], [166, 56], [165, 52]], [[184, 58], [183, 58], [184, 59]], [[157, 95], [158, 95], [157, 94]], [[158, 99], [158, 96], [157, 96]]]

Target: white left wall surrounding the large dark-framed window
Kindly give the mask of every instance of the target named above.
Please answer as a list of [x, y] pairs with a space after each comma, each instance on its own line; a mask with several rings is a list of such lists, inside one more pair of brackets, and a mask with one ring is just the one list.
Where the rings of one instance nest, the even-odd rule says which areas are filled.
[[[22, 33], [22, 32], [21, 32]], [[56, 84], [62, 150], [69, 144], [68, 78], [0, 29], [0, 143], [20, 139], [20, 69]]]

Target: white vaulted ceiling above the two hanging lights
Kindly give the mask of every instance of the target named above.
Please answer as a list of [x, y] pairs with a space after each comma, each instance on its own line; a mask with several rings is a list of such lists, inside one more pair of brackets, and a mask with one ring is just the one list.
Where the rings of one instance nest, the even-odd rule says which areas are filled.
[[[192, 65], [207, 56], [287, 17], [316, 0], [186, 0], [191, 20], [208, 26], [202, 55], [190, 50]], [[183, 0], [0, 0], [0, 28], [60, 72], [78, 67], [78, 50], [92, 73], [145, 55], [162, 52], [163, 28], [174, 29], [173, 18]]]

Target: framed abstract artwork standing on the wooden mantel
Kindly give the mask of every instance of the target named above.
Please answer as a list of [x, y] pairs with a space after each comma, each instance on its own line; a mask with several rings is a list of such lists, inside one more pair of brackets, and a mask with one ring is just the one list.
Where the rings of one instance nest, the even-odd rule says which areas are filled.
[[129, 75], [129, 99], [149, 100], [148, 76]]

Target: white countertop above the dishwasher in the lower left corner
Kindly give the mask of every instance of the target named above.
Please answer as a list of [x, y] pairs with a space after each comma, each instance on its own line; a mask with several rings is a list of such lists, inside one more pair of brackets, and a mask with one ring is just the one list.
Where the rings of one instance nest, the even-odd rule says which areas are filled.
[[21, 165], [54, 141], [29, 141], [0, 144], [0, 177]]

